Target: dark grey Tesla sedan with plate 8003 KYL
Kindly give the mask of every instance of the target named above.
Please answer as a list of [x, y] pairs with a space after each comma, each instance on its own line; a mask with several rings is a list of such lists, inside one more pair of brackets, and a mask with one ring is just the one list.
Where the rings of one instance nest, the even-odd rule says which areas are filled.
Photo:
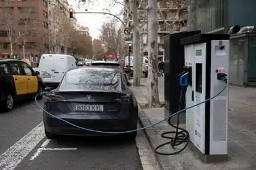
[[[116, 68], [77, 68], [67, 71], [61, 83], [45, 97], [44, 108], [58, 118], [98, 131], [137, 129], [138, 107], [122, 70]], [[71, 126], [43, 111], [45, 134], [106, 136]], [[134, 139], [137, 132], [127, 133]]]

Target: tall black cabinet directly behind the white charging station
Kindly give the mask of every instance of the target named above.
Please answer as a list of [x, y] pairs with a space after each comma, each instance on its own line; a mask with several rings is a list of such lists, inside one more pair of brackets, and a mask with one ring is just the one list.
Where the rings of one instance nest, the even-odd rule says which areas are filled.
[[[164, 118], [178, 110], [181, 85], [179, 84], [179, 74], [184, 67], [184, 45], [181, 39], [201, 31], [181, 32], [169, 34], [164, 39]], [[185, 102], [181, 108], [185, 107]], [[177, 116], [171, 119], [171, 123], [176, 123]], [[186, 123], [185, 113], [180, 115], [180, 123]]]

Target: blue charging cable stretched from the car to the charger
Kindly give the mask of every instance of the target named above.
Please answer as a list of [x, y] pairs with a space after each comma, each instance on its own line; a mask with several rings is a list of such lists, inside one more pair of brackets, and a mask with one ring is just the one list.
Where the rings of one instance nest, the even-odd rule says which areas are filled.
[[[187, 76], [187, 75], [186, 75], [186, 76]], [[187, 84], [187, 82], [186, 82], [185, 84]], [[130, 132], [135, 132], [135, 131], [143, 131], [144, 129], [147, 129], [148, 127], [156, 126], [157, 124], [160, 124], [160, 123], [162, 123], [163, 121], [165, 121], [165, 120], [167, 120], [167, 119], [169, 119], [169, 118], [171, 118], [171, 117], [173, 117], [173, 116], [175, 116], [175, 115], [177, 115], [177, 114], [179, 114], [179, 113], [181, 113], [181, 112], [183, 112], [183, 111], [186, 111], [186, 110], [188, 110], [188, 109], [190, 109], [190, 108], [193, 108], [193, 107], [196, 107], [196, 106], [198, 106], [198, 105], [201, 105], [202, 103], [208, 102], [208, 101], [210, 101], [211, 99], [214, 99], [215, 97], [217, 97], [218, 95], [220, 95], [221, 92], [223, 92], [224, 89], [226, 89], [226, 87], [227, 87], [227, 83], [225, 82], [225, 85], [224, 85], [223, 89], [222, 89], [220, 92], [218, 92], [218, 94], [214, 95], [213, 97], [211, 97], [211, 98], [209, 98], [209, 99], [207, 99], [207, 100], [205, 100], [205, 101], [203, 101], [203, 102], [200, 102], [200, 103], [197, 103], [197, 104], [192, 105], [192, 106], [190, 106], [190, 107], [187, 107], [187, 108], [184, 108], [184, 109], [182, 109], [182, 110], [179, 110], [179, 111], [177, 111], [176, 113], [173, 113], [172, 115], [170, 115], [170, 116], [164, 118], [164, 119], [161, 120], [161, 121], [158, 121], [158, 122], [156, 122], [156, 123], [150, 124], [150, 125], [148, 125], [148, 126], [145, 126], [145, 127], [139, 128], [139, 129], [134, 129], [134, 130], [130, 130], [130, 131], [121, 131], [121, 132], [96, 131], [96, 130], [93, 130], [93, 129], [88, 129], [88, 128], [85, 128], [85, 127], [77, 126], [77, 125], [75, 125], [75, 124], [73, 124], [73, 123], [70, 123], [69, 121], [66, 121], [65, 119], [59, 118], [58, 116], [54, 116], [53, 114], [51, 114], [51, 113], [49, 113], [48, 111], [46, 111], [43, 107], [41, 107], [41, 105], [40, 105], [40, 104], [37, 102], [37, 100], [36, 100], [36, 98], [38, 97], [38, 95], [48, 95], [48, 94], [46, 94], [46, 93], [37, 94], [36, 97], [35, 97], [35, 102], [36, 102], [36, 105], [38, 105], [38, 107], [40, 107], [40, 108], [41, 108], [43, 111], [45, 111], [45, 113], [47, 113], [48, 115], [51, 115], [51, 116], [53, 116], [54, 118], [59, 119], [59, 120], [61, 120], [61, 121], [64, 121], [65, 123], [70, 124], [71, 126], [77, 127], [77, 128], [79, 128], [79, 129], [82, 129], [82, 130], [85, 130], [85, 131], [90, 131], [90, 132], [102, 133], [102, 134], [126, 134], [126, 133], [130, 133]]]

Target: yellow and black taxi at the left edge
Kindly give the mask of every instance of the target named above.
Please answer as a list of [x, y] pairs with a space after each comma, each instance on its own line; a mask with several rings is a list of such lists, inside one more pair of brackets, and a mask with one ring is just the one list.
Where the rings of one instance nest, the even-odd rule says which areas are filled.
[[0, 111], [11, 111], [18, 100], [35, 97], [44, 87], [38, 71], [27, 63], [0, 59]]

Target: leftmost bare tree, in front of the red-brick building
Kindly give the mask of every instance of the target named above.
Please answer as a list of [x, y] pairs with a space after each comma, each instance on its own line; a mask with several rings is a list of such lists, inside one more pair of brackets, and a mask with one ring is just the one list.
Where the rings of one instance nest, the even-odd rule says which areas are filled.
[[13, 7], [1, 7], [0, 22], [6, 31], [7, 38], [10, 42], [10, 54], [13, 55], [13, 46], [17, 42], [17, 39], [22, 36], [18, 31], [19, 14], [14, 11]]

